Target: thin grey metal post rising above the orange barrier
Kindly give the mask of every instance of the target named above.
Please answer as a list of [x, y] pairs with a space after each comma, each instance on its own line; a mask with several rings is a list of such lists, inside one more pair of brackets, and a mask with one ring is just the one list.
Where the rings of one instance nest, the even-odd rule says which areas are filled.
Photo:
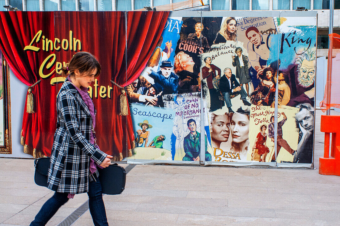
[[[334, 0], [329, 1], [329, 31], [328, 34], [333, 33], [333, 14], [334, 14]], [[330, 104], [330, 88], [332, 81], [332, 50], [333, 50], [333, 39], [328, 38], [328, 68], [327, 68], [327, 98], [326, 106]], [[330, 108], [326, 110], [326, 115], [330, 115]]]

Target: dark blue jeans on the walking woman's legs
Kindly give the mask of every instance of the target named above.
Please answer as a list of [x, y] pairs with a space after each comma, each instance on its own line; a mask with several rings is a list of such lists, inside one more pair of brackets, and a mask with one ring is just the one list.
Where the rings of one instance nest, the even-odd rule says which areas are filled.
[[[89, 209], [92, 216], [93, 223], [97, 226], [108, 226], [106, 219], [105, 206], [102, 198], [102, 185], [99, 178], [97, 181], [90, 181], [88, 185]], [[41, 207], [34, 221], [30, 226], [46, 225], [57, 210], [67, 201], [67, 193], [55, 192], [54, 195], [46, 201]]]

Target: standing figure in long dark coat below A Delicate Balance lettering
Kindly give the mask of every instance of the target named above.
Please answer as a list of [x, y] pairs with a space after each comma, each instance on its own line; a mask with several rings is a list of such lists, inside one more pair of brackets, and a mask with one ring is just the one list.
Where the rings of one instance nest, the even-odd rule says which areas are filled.
[[245, 89], [247, 90], [248, 97], [249, 95], [249, 83], [250, 83], [250, 76], [249, 76], [249, 61], [248, 57], [242, 54], [242, 48], [236, 47], [235, 53], [237, 56], [232, 56], [233, 58], [233, 66], [236, 67], [236, 77], [240, 81], [240, 85], [243, 86], [245, 84]]

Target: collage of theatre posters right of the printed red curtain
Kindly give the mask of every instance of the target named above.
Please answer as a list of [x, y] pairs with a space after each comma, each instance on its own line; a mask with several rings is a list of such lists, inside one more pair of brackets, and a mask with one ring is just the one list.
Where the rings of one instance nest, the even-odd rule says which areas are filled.
[[311, 164], [316, 17], [172, 15], [126, 87], [128, 162]]

